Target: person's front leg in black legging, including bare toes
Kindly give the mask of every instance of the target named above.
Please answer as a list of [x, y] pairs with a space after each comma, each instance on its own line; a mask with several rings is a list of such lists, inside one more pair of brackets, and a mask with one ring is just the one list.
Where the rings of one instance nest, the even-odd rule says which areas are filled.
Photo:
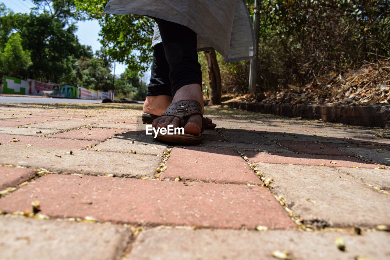
[[[172, 102], [184, 99], [196, 100], [203, 107], [202, 95], [202, 72], [198, 62], [196, 50], [196, 33], [189, 28], [156, 19], [160, 29], [161, 39], [165, 50], [165, 57], [170, 68], [169, 79], [172, 83]], [[153, 127], [167, 127], [174, 125], [179, 127], [178, 118], [172, 116], [162, 116], [153, 121]], [[184, 132], [186, 134], [197, 135], [202, 126], [202, 117], [193, 115], [187, 118]]]

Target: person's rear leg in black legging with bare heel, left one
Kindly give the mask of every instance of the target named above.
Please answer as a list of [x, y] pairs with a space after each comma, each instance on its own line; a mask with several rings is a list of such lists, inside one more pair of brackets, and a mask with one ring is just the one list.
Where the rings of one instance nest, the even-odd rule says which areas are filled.
[[172, 103], [169, 65], [162, 43], [154, 46], [150, 84], [147, 88], [144, 113], [161, 116]]

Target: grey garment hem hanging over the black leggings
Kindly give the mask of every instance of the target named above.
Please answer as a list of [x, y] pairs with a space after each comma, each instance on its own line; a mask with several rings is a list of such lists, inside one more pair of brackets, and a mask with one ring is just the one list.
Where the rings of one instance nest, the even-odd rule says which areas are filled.
[[[186, 9], [187, 5], [194, 7], [193, 1], [199, 2], [199, 9]], [[229, 7], [226, 6], [225, 9], [215, 4], [217, 12], [210, 16], [204, 15], [211, 14], [214, 4], [208, 2], [209, 0], [193, 1], [156, 0], [149, 3], [145, 0], [110, 0], [104, 14], [145, 15], [179, 23], [197, 33], [198, 51], [215, 49], [224, 57], [225, 62], [254, 57], [254, 30], [245, 0], [221, 0], [229, 3]], [[159, 2], [164, 7], [171, 7], [172, 11], [161, 9]], [[204, 9], [205, 7], [207, 9]], [[221, 8], [225, 11], [221, 11]], [[190, 12], [189, 16], [187, 12]], [[200, 17], [202, 20], [199, 20]], [[161, 42], [159, 38], [158, 27], [155, 27], [152, 45]]]

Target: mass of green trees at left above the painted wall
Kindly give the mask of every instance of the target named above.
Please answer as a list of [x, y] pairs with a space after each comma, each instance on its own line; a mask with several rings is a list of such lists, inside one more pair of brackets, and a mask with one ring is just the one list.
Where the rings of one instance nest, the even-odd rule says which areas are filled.
[[[0, 68], [2, 74], [17, 78], [34, 78], [44, 82], [56, 82], [58, 84], [69, 84], [81, 86], [100, 91], [109, 91], [113, 87], [117, 94], [144, 100], [146, 84], [138, 77], [139, 68], [147, 66], [149, 54], [142, 54], [144, 58], [138, 59], [136, 52], [127, 55], [125, 52], [131, 50], [130, 45], [122, 46], [122, 49], [98, 50], [95, 55], [90, 46], [80, 45], [74, 33], [77, 30], [75, 22], [85, 19], [82, 11], [76, 10], [74, 0], [32, 0], [36, 5], [30, 14], [14, 13], [0, 4]], [[93, 14], [93, 13], [91, 13]], [[142, 20], [132, 17], [133, 20], [123, 22], [135, 23], [129, 30], [133, 31], [132, 37], [143, 34]], [[119, 20], [121, 21], [121, 20]], [[119, 33], [123, 37], [125, 32], [110, 31], [112, 23], [105, 23], [107, 32]], [[146, 25], [145, 25], [146, 26]], [[114, 35], [107, 36], [107, 45], [115, 39]], [[125, 37], [126, 38], [126, 37]], [[128, 39], [124, 39], [126, 45]], [[139, 49], [150, 43], [137, 42]], [[150, 52], [150, 50], [147, 50]], [[117, 55], [117, 56], [115, 56]], [[123, 55], [121, 58], [118, 55]], [[113, 75], [111, 74], [112, 59], [124, 61], [138, 59], [142, 66], [136, 65], [133, 72], [127, 70], [120, 78], [115, 78], [113, 86]], [[33, 64], [33, 66], [31, 66]], [[146, 68], [146, 67], [145, 67]]]

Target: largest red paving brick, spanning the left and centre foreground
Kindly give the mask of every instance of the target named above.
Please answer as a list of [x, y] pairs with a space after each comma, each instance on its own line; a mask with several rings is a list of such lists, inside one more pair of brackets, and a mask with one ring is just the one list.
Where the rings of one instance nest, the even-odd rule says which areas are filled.
[[296, 229], [274, 196], [260, 186], [46, 175], [2, 198], [0, 210], [30, 210], [32, 200], [40, 201], [41, 212], [51, 217], [91, 216], [145, 225]]

